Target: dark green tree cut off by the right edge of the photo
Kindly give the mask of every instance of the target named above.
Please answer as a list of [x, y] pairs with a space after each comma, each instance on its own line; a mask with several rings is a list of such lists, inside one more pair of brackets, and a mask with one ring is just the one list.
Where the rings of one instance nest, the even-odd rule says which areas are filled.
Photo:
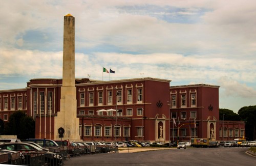
[[256, 105], [244, 106], [238, 111], [239, 116], [245, 121], [245, 136], [247, 140], [256, 139]]

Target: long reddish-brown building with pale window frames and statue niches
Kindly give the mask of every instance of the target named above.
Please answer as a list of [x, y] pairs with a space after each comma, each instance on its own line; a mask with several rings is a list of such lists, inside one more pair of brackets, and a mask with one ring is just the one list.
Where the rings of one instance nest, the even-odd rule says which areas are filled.
[[[170, 80], [157, 78], [75, 79], [81, 140], [169, 142], [178, 135], [181, 141], [191, 137], [231, 140], [244, 134], [243, 122], [224, 121], [223, 129], [219, 86], [169, 84]], [[62, 79], [31, 79], [26, 89], [0, 91], [0, 118], [8, 121], [15, 110], [25, 110], [35, 118], [35, 137], [53, 139], [58, 132], [54, 117], [60, 110], [61, 86]]]

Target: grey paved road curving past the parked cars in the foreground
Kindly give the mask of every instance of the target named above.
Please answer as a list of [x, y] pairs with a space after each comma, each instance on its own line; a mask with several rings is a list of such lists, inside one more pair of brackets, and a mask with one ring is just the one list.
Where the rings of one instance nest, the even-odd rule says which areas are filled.
[[187, 148], [138, 153], [101, 153], [72, 157], [64, 166], [79, 165], [255, 165], [248, 148]]

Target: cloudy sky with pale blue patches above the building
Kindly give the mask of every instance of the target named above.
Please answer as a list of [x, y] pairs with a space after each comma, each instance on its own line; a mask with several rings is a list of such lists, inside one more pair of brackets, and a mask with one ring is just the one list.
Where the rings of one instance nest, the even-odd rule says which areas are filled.
[[255, 0], [11, 0], [0, 6], [0, 90], [62, 77], [63, 17], [75, 76], [155, 77], [220, 87], [220, 108], [256, 105]]

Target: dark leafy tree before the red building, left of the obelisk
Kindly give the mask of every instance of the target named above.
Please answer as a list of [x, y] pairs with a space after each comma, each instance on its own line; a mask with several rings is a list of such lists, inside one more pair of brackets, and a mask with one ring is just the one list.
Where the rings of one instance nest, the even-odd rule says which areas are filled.
[[6, 135], [17, 135], [20, 140], [35, 137], [35, 121], [28, 117], [24, 111], [17, 110], [5, 125]]

